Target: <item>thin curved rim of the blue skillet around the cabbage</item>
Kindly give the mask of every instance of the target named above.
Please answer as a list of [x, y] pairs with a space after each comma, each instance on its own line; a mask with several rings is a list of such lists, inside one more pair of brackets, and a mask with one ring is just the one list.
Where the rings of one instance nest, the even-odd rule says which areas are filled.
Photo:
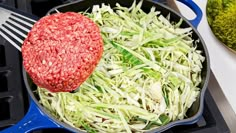
[[[48, 11], [47, 15], [50, 14], [50, 12], [52, 11], [55, 11], [55, 9], [58, 9], [58, 8], [63, 8], [63, 7], [66, 7], [66, 6], [69, 6], [69, 5], [73, 5], [73, 4], [78, 4], [79, 2], [82, 2], [82, 1], [85, 1], [85, 0], [78, 0], [78, 1], [74, 1], [74, 2], [71, 2], [71, 3], [67, 3], [67, 4], [63, 4], [63, 5], [59, 5], [59, 6], [56, 6], [54, 8], [52, 8], [51, 10]], [[171, 9], [170, 7], [166, 6], [166, 5], [163, 5], [161, 3], [158, 3], [158, 2], [155, 2], [155, 1], [151, 1], [151, 0], [143, 0], [143, 1], [147, 1], [147, 2], [150, 2], [152, 3], [153, 5], [155, 6], [161, 6], [162, 8], [165, 8], [166, 10], [168, 10], [171, 14], [174, 13], [175, 15], [177, 15], [179, 18], [182, 18], [183, 21], [185, 23], [188, 24], [189, 27], [191, 27], [193, 29], [193, 32], [197, 35], [197, 37], [199, 38], [200, 40], [200, 43], [199, 45], [202, 45], [203, 49], [203, 53], [205, 54], [205, 61], [206, 61], [206, 76], [205, 76], [205, 81], [204, 81], [204, 85], [203, 87], [201, 88], [201, 91], [200, 91], [200, 95], [199, 95], [199, 108], [198, 108], [198, 111], [196, 114], [194, 114], [192, 117], [189, 117], [189, 118], [185, 118], [183, 120], [177, 120], [177, 121], [173, 121], [173, 122], [170, 122], [164, 126], [161, 126], [159, 128], [155, 128], [155, 129], [152, 129], [150, 131], [147, 131], [147, 132], [163, 132], [167, 129], [170, 129], [171, 127], [174, 127], [174, 126], [177, 126], [177, 125], [188, 125], [188, 124], [193, 124], [193, 123], [196, 123], [201, 115], [202, 115], [202, 112], [203, 112], [203, 108], [204, 108], [204, 95], [205, 95], [205, 91], [207, 89], [207, 86], [208, 86], [208, 83], [209, 83], [209, 79], [210, 79], [210, 58], [209, 58], [209, 53], [208, 53], [208, 50], [207, 50], [207, 47], [206, 47], [206, 44], [205, 42], [203, 41], [203, 38], [200, 36], [199, 32], [197, 31], [197, 29], [183, 16], [181, 15], [180, 13], [176, 12], [175, 10]], [[23, 66], [23, 64], [22, 64]], [[25, 85], [26, 85], [26, 88], [27, 88], [27, 91], [29, 93], [29, 95], [31, 96], [31, 98], [33, 99], [33, 101], [35, 102], [35, 104], [37, 105], [37, 107], [46, 115], [46, 117], [48, 117], [51, 121], [54, 121], [56, 122], [57, 124], [59, 124], [61, 126], [61, 128], [66, 128], [70, 131], [73, 131], [73, 132], [85, 132], [83, 130], [79, 130], [79, 129], [76, 129], [75, 127], [72, 127], [70, 126], [69, 124], [67, 123], [64, 123], [64, 122], [61, 122], [59, 121], [58, 119], [56, 119], [55, 117], [53, 117], [49, 111], [46, 110], [45, 107], [43, 107], [38, 99], [35, 97], [35, 94], [32, 92], [32, 89], [28, 83], [28, 75], [24, 69], [24, 67], [22, 67], [23, 70], [23, 78], [24, 78], [24, 82], [25, 82]]]

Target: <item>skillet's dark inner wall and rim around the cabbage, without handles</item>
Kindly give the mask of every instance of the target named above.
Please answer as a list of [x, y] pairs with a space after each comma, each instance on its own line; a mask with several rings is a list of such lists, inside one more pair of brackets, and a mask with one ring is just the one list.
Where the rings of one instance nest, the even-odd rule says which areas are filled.
[[[137, 2], [138, 1], [139, 0], [137, 0]], [[131, 4], [133, 3], [133, 0], [125, 0], [125, 1], [124, 0], [80, 0], [80, 1], [77, 1], [77, 2], [70, 3], [70, 4], [65, 4], [65, 5], [62, 5], [62, 6], [55, 7], [54, 9], [49, 11], [49, 14], [56, 13], [55, 9], [57, 9], [60, 12], [85, 11], [87, 9], [91, 9], [93, 5], [97, 5], [97, 4], [101, 5], [102, 3], [109, 4], [111, 7], [114, 7], [116, 3], [119, 3], [122, 6], [130, 7]], [[178, 13], [176, 13], [172, 9], [166, 7], [165, 5], [154, 3], [154, 2], [148, 1], [148, 0], [143, 1], [142, 9], [145, 12], [149, 12], [150, 8], [152, 6], [155, 6], [156, 10], [161, 11], [161, 14], [164, 15], [164, 16], [167, 16], [170, 13], [171, 14], [170, 21], [178, 22], [180, 20], [180, 18], [183, 18], [183, 16], [179, 15]], [[191, 24], [185, 18], [183, 18], [183, 20], [184, 21], [183, 21], [181, 27], [184, 28], [184, 27], [190, 27], [191, 26]], [[202, 111], [203, 111], [204, 94], [205, 94], [205, 90], [207, 88], [207, 84], [208, 84], [208, 80], [209, 80], [209, 76], [210, 76], [210, 63], [209, 63], [209, 55], [208, 55], [206, 46], [205, 46], [202, 38], [200, 37], [199, 33], [197, 32], [197, 30], [195, 28], [193, 28], [192, 38], [194, 40], [197, 40], [197, 39], [200, 40], [199, 43], [197, 43], [197, 49], [203, 51], [203, 56], [206, 57], [206, 60], [203, 62], [203, 69], [202, 69], [202, 75], [201, 75], [202, 82], [199, 86], [200, 88], [202, 88], [201, 94], [198, 97], [198, 99], [194, 102], [194, 104], [191, 106], [191, 108], [188, 110], [186, 119], [171, 122], [171, 123], [169, 123], [165, 126], [162, 126], [158, 129], [152, 130], [152, 132], [164, 131], [164, 130], [167, 130], [168, 128], [171, 128], [175, 125], [192, 124], [192, 123], [195, 123], [201, 117], [201, 114], [202, 114]], [[39, 98], [35, 93], [33, 93], [37, 89], [36, 85], [29, 78], [29, 76], [26, 74], [24, 69], [23, 69], [23, 75], [24, 75], [24, 81], [25, 81], [27, 90], [28, 90], [30, 96], [32, 97], [32, 99], [39, 106], [39, 108], [45, 114], [47, 114], [50, 118], [52, 118], [54, 121], [56, 121], [58, 124], [62, 125], [63, 127], [67, 128], [71, 131], [78, 132], [79, 130], [76, 130], [75, 128], [69, 126], [68, 124], [60, 122], [57, 119], [53, 118], [53, 116], [50, 115], [44, 109], [44, 107], [42, 107], [38, 103]]]

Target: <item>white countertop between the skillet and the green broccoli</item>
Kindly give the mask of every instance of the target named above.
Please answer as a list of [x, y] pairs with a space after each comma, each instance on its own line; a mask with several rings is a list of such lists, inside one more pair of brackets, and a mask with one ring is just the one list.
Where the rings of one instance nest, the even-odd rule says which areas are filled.
[[[236, 53], [231, 52], [219, 42], [208, 25], [206, 19], [207, 0], [193, 0], [202, 9], [203, 18], [198, 31], [205, 41], [209, 54], [211, 69], [227, 100], [236, 112]], [[186, 18], [194, 18], [195, 14], [182, 3], [176, 2], [180, 12]]]

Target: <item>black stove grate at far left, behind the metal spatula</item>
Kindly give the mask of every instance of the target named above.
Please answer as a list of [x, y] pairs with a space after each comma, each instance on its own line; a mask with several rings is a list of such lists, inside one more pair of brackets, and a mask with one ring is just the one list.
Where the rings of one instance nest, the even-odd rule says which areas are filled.
[[[0, 4], [30, 11], [26, 0], [0, 0]], [[17, 123], [27, 111], [22, 81], [21, 53], [0, 36], [0, 130]]]

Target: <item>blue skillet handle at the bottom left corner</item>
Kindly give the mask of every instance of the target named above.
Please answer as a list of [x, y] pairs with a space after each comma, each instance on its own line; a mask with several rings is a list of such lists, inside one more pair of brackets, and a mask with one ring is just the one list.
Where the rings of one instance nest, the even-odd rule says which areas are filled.
[[41, 112], [35, 102], [30, 98], [29, 111], [25, 117], [14, 126], [1, 131], [1, 133], [29, 133], [33, 130], [43, 128], [62, 127]]

